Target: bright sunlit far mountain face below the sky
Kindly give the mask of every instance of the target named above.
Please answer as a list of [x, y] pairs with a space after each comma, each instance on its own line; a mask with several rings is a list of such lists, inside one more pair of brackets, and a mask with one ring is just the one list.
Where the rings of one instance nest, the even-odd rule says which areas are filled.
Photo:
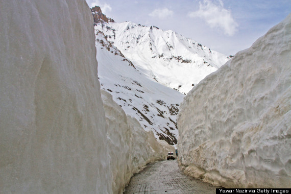
[[229, 60], [171, 30], [132, 22], [103, 22], [95, 28], [143, 74], [185, 94]]

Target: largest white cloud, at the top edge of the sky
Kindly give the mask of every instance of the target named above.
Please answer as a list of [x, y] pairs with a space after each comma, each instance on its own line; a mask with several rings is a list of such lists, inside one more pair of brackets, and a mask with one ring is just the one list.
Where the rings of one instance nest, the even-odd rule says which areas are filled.
[[199, 10], [188, 13], [189, 17], [203, 18], [211, 28], [219, 28], [224, 34], [232, 36], [237, 31], [238, 24], [231, 15], [231, 11], [223, 7], [221, 0], [199, 2]]

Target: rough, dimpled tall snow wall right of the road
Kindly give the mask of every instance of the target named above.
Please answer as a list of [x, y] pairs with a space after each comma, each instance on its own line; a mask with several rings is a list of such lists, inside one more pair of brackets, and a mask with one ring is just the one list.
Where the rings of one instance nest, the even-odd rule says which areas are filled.
[[224, 187], [291, 186], [291, 14], [184, 98], [184, 173]]

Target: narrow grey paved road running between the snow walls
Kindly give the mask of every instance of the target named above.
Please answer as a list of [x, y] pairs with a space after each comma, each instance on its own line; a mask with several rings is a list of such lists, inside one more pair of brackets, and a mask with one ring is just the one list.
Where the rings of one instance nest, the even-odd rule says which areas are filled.
[[124, 194], [133, 193], [215, 193], [211, 184], [188, 177], [178, 167], [177, 160], [149, 163], [131, 177]]

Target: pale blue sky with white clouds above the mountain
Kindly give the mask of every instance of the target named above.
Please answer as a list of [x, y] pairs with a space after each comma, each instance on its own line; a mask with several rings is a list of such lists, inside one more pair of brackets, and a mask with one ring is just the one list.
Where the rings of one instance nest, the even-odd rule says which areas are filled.
[[116, 22], [173, 30], [227, 56], [291, 13], [291, 0], [86, 0]]

